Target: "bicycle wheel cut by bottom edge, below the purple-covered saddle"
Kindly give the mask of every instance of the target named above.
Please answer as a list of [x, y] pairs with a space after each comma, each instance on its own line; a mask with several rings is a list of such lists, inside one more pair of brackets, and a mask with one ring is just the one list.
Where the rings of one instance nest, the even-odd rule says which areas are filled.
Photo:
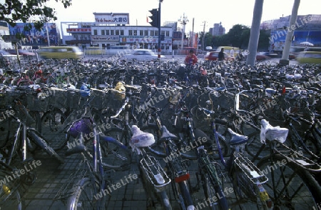
[[[98, 197], [100, 187], [98, 181], [95, 181], [96, 187], [93, 187], [93, 181], [89, 178], [83, 178], [75, 186], [75, 192], [68, 198], [68, 210], [81, 210], [81, 209], [96, 209], [102, 206], [96, 206], [95, 196]], [[101, 198], [103, 198], [103, 191], [101, 191]], [[104, 198], [103, 200], [106, 200]], [[99, 202], [98, 202], [99, 203]]]

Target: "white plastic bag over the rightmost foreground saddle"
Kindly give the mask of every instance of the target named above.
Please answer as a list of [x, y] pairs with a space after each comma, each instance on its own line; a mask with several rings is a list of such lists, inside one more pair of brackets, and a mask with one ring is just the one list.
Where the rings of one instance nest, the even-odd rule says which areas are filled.
[[280, 126], [271, 126], [268, 121], [265, 119], [261, 120], [261, 133], [260, 141], [262, 144], [265, 144], [265, 139], [267, 140], [277, 140], [281, 143], [284, 143], [287, 139], [287, 134], [289, 129], [280, 128]]

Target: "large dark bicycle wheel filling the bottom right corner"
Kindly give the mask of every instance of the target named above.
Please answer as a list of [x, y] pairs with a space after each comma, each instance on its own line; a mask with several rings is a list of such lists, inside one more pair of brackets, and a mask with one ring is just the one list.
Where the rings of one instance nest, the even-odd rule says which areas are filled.
[[[291, 161], [286, 160], [286, 163], [283, 164], [284, 160], [285, 158], [283, 156], [275, 154], [272, 156], [272, 161], [271, 156], [265, 156], [257, 164], [261, 171], [265, 170], [265, 172], [267, 172], [267, 170], [269, 170], [269, 173], [266, 174], [269, 181], [265, 183], [265, 189], [272, 199], [274, 206], [277, 205], [275, 206], [277, 208], [282, 204], [287, 204], [287, 206], [291, 205], [293, 208], [295, 207], [295, 209], [314, 209], [321, 201], [320, 185], [308, 171], [296, 166], [295, 163]], [[280, 163], [282, 163], [281, 166]], [[277, 176], [279, 170], [280, 176]], [[276, 180], [279, 178], [280, 180]], [[284, 183], [285, 181], [289, 182]], [[297, 184], [297, 186], [295, 184]], [[287, 186], [287, 189], [280, 191], [276, 189], [277, 186], [280, 186], [281, 189]], [[299, 186], [300, 189], [298, 188]], [[300, 192], [298, 190], [300, 190]], [[291, 194], [292, 192], [295, 194]], [[305, 201], [304, 206], [303, 201]], [[281, 206], [281, 209], [286, 209], [287, 206]]]

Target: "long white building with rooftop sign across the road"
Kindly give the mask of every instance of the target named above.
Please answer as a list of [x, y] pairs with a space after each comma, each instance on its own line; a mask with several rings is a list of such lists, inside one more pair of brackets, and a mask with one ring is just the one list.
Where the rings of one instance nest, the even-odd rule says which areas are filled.
[[[113, 45], [139, 45], [142, 49], [158, 49], [158, 29], [153, 26], [129, 25], [128, 13], [93, 13], [95, 21], [91, 23], [66, 24], [61, 29], [63, 44], [76, 46], [97, 46], [108, 49]], [[86, 26], [86, 28], [83, 28]], [[88, 28], [90, 26], [90, 29]], [[63, 28], [61, 26], [61, 28]], [[90, 35], [89, 35], [90, 34]], [[90, 36], [90, 41], [88, 40]], [[173, 27], [161, 27], [161, 49], [172, 51]], [[78, 40], [78, 41], [77, 41]]]

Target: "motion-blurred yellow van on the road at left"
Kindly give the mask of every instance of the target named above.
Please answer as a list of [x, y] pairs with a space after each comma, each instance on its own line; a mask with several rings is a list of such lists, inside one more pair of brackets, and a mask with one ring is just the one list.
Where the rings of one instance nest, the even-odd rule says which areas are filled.
[[80, 59], [83, 52], [78, 46], [46, 46], [39, 49], [43, 59]]

